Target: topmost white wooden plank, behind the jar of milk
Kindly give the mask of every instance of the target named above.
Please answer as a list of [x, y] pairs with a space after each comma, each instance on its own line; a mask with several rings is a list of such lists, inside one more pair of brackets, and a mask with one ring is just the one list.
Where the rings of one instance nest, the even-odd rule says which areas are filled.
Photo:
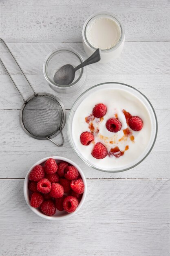
[[126, 41], [170, 40], [170, 2], [151, 0], [2, 0], [1, 36], [12, 42], [82, 41], [85, 20], [99, 11], [122, 20]]

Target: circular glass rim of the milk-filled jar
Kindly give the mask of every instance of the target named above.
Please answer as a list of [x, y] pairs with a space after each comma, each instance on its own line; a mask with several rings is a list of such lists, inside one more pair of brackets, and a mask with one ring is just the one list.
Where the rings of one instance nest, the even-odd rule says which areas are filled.
[[93, 18], [95, 18], [95, 17], [97, 17], [97, 16], [99, 16], [99, 15], [102, 15], [102, 14], [103, 14], [103, 15], [108, 15], [108, 16], [111, 16], [112, 18], [114, 18], [114, 19], [118, 22], [118, 24], [119, 24], [119, 26], [120, 26], [120, 29], [121, 29], [121, 36], [120, 36], [120, 39], [119, 39], [119, 41], [117, 42], [116, 45], [114, 45], [113, 47], [111, 47], [111, 48], [109, 48], [109, 49], [100, 49], [101, 53], [106, 53], [106, 52], [111, 52], [111, 51], [117, 49], [117, 48], [121, 45], [121, 43], [123, 42], [124, 37], [125, 37], [124, 25], [123, 25], [123, 23], [121, 22], [121, 20], [120, 20], [115, 14], [110, 13], [110, 12], [107, 12], [107, 11], [105, 11], [105, 12], [102, 11], [102, 12], [98, 12], [98, 13], [95, 13], [95, 14], [89, 16], [89, 17], [86, 19], [86, 21], [84, 22], [83, 31], [82, 31], [82, 37], [83, 37], [84, 43], [85, 43], [88, 47], [90, 47], [90, 48], [93, 49], [93, 50], [96, 50], [96, 48], [88, 42], [88, 39], [87, 39], [87, 37], [86, 37], [86, 29], [87, 29], [87, 26], [88, 26], [89, 22], [90, 22]]

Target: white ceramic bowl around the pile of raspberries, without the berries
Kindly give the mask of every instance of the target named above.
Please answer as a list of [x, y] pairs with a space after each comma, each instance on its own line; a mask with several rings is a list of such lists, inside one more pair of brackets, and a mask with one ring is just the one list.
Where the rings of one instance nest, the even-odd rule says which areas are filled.
[[[28, 189], [29, 173], [31, 172], [31, 170], [36, 165], [43, 164], [49, 158], [55, 159], [57, 163], [60, 163], [61, 161], [65, 161], [65, 162], [68, 162], [69, 164], [75, 166], [77, 168], [77, 170], [79, 171], [79, 174], [82, 177], [82, 180], [84, 182], [84, 193], [82, 195], [82, 199], [79, 202], [79, 205], [78, 205], [77, 209], [73, 213], [67, 213], [66, 211], [58, 211], [58, 210], [56, 210], [56, 213], [53, 216], [47, 216], [44, 213], [42, 213], [39, 209], [31, 207], [31, 205], [30, 205], [29, 189]], [[40, 217], [42, 217], [42, 218], [44, 218], [46, 220], [65, 220], [65, 219], [70, 218], [71, 216], [73, 216], [82, 207], [82, 205], [84, 203], [84, 200], [86, 198], [86, 193], [87, 193], [87, 184], [86, 184], [86, 178], [84, 176], [84, 173], [82, 172], [82, 170], [79, 168], [79, 166], [77, 164], [75, 164], [73, 161], [71, 161], [70, 159], [65, 158], [65, 157], [51, 156], [51, 157], [45, 157], [45, 158], [39, 160], [33, 166], [31, 166], [31, 168], [29, 169], [28, 173], [26, 174], [26, 177], [25, 177], [25, 180], [24, 180], [24, 197], [25, 197], [26, 203], [28, 204], [29, 208], [34, 213], [36, 213], [38, 216], [40, 216]]]

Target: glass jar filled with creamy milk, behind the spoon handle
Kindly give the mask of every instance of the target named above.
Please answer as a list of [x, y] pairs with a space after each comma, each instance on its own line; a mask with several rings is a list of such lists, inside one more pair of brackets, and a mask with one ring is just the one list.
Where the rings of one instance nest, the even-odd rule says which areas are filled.
[[114, 14], [100, 12], [90, 16], [83, 26], [83, 46], [88, 56], [101, 50], [101, 63], [120, 55], [125, 41], [124, 26]]

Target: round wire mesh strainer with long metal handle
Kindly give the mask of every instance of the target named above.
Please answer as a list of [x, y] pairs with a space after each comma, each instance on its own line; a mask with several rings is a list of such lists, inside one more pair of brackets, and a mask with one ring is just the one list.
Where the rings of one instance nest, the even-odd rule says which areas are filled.
[[[9, 74], [11, 80], [13, 81], [15, 87], [17, 88], [18, 92], [20, 93], [24, 101], [24, 104], [20, 110], [20, 122], [22, 128], [28, 135], [35, 139], [49, 139], [55, 145], [63, 146], [64, 137], [62, 134], [62, 129], [64, 128], [64, 125], [66, 123], [66, 110], [64, 108], [64, 105], [62, 104], [60, 99], [58, 99], [52, 94], [35, 92], [31, 83], [22, 71], [22, 68], [20, 67], [12, 52], [10, 51], [9, 47], [6, 45], [4, 40], [2, 40], [1, 38], [0, 40], [9, 50], [11, 56], [17, 63], [22, 74], [24, 75], [27, 82], [31, 86], [31, 89], [34, 92], [34, 94], [31, 97], [25, 100], [15, 81], [13, 81], [13, 78], [7, 70], [7, 67], [0, 59], [2, 65]], [[57, 144], [52, 140], [52, 138], [58, 135], [59, 133], [61, 133], [62, 135], [62, 144]]]

